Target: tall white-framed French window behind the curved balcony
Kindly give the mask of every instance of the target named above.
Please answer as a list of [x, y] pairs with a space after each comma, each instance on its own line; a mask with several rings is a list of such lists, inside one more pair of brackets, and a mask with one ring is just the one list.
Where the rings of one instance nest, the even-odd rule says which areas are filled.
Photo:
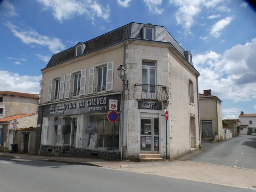
[[[156, 84], [156, 63], [142, 61], [142, 84]], [[142, 86], [142, 92], [155, 93], [155, 87]]]

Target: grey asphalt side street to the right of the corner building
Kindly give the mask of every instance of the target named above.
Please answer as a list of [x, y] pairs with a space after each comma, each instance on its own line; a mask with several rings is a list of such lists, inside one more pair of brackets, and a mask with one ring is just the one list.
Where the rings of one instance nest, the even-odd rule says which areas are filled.
[[202, 140], [204, 153], [191, 161], [256, 170], [256, 136], [240, 135], [210, 143]]

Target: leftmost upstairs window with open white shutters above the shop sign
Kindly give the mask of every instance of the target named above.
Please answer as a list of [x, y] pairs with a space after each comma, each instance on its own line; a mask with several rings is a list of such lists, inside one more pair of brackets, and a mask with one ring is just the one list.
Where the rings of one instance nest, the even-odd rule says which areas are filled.
[[47, 101], [63, 99], [65, 75], [49, 80]]

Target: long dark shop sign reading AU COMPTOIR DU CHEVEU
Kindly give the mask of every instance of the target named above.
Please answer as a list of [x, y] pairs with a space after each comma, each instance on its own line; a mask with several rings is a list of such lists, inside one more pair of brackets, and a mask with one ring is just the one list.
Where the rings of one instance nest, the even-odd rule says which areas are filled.
[[109, 111], [109, 100], [117, 100], [117, 110], [120, 111], [121, 95], [108, 95], [90, 99], [74, 100], [44, 106], [44, 117], [72, 115], [81, 113], [97, 113]]

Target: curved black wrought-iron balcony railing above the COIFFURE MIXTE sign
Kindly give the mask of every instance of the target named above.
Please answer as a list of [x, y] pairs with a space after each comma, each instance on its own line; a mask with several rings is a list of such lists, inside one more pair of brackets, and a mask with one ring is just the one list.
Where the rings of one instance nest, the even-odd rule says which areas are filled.
[[133, 98], [135, 100], [164, 102], [169, 99], [169, 96], [168, 96], [166, 86], [135, 84]]

